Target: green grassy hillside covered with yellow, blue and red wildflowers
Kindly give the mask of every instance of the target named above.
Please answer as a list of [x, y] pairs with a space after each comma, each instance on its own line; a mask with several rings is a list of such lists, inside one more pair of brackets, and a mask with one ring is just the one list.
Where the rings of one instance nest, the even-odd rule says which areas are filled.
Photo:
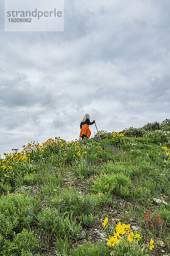
[[0, 255], [168, 253], [170, 119], [0, 160]]

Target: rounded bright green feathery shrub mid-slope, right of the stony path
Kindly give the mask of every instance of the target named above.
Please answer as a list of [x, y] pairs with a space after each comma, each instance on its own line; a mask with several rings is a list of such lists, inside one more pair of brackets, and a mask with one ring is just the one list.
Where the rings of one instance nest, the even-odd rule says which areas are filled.
[[97, 180], [94, 180], [93, 189], [96, 192], [114, 192], [117, 195], [129, 195], [130, 178], [120, 173], [111, 175], [101, 174]]

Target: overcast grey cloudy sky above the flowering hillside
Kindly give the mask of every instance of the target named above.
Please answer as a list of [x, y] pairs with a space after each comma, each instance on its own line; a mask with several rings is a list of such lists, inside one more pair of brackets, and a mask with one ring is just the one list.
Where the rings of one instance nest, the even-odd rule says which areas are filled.
[[105, 131], [170, 118], [169, 0], [65, 0], [64, 32], [4, 32], [2, 2], [1, 156], [78, 138], [85, 113]]

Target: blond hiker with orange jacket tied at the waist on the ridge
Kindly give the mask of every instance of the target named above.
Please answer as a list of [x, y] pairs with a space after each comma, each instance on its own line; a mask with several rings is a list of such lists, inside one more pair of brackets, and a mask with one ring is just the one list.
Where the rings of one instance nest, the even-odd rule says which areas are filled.
[[80, 124], [81, 131], [80, 131], [79, 137], [82, 137], [82, 140], [85, 139], [85, 138], [86, 139], [90, 138], [91, 131], [88, 128], [88, 125], [93, 125], [94, 123], [95, 123], [95, 120], [93, 120], [93, 122], [91, 122], [89, 114], [85, 114], [85, 116], [83, 117], [82, 122]]

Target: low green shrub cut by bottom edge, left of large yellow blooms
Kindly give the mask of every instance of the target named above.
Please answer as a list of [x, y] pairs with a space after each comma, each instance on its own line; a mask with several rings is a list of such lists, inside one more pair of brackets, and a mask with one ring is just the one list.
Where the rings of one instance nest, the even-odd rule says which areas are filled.
[[103, 243], [83, 244], [71, 252], [71, 256], [110, 256], [110, 251]]

